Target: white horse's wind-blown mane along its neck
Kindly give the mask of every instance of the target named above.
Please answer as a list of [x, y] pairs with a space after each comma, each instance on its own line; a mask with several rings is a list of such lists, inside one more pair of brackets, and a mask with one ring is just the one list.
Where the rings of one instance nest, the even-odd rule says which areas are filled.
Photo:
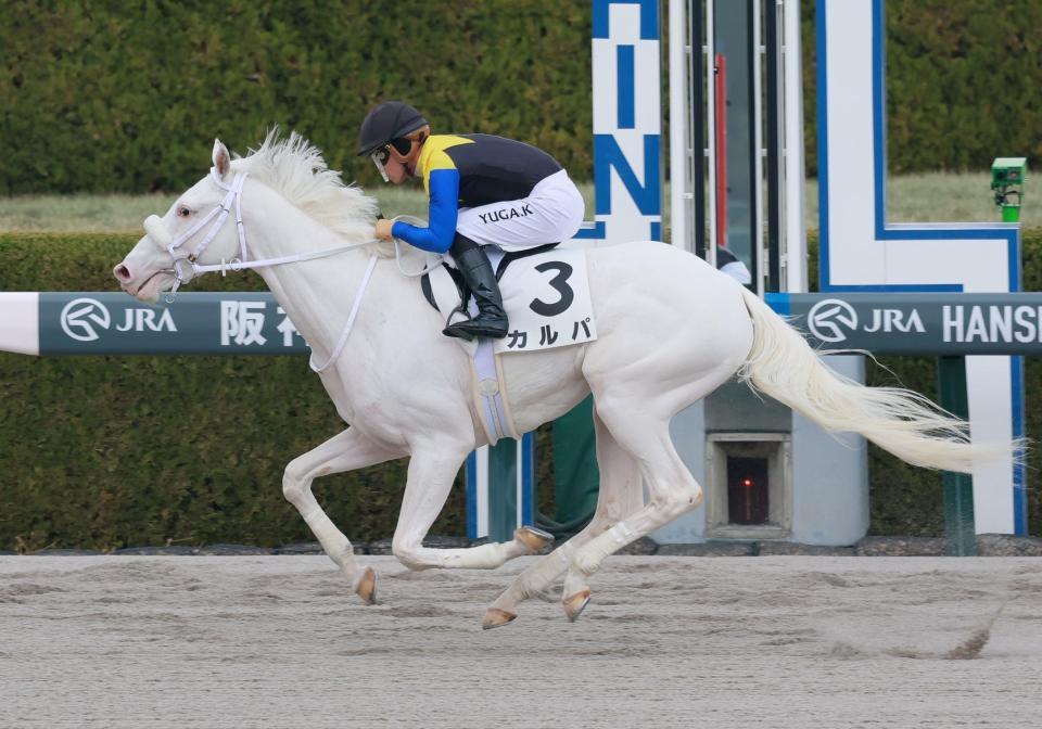
[[[340, 171], [327, 166], [321, 150], [295, 131], [281, 138], [279, 128], [271, 128], [259, 149], [231, 165], [249, 171], [341, 238], [351, 242], [372, 238], [377, 201], [361, 188], [344, 184]], [[387, 246], [374, 247], [387, 254]]]

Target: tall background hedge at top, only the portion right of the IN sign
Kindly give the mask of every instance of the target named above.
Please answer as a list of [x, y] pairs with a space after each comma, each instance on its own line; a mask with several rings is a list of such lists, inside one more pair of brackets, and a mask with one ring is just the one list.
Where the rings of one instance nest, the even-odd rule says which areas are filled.
[[[812, 177], [817, 175], [815, 5], [802, 0], [804, 143]], [[1001, 156], [1039, 163], [1042, 4], [886, 0], [885, 15], [891, 172], [989, 169]]]

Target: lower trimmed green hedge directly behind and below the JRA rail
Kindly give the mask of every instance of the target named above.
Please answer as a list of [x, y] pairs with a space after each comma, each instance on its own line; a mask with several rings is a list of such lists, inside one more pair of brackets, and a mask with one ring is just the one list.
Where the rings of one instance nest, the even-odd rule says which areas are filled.
[[[134, 235], [0, 235], [0, 291], [107, 291]], [[812, 241], [813, 244], [813, 241]], [[812, 255], [812, 261], [816, 256]], [[1025, 285], [1042, 290], [1042, 230], [1025, 240]], [[209, 277], [214, 291], [263, 287]], [[936, 395], [929, 358], [882, 359]], [[1042, 362], [1028, 360], [1028, 432], [1042, 427]], [[0, 549], [282, 545], [310, 533], [281, 494], [284, 465], [344, 427], [303, 357], [42, 357], [0, 353]], [[539, 508], [552, 513], [551, 439], [537, 435]], [[1039, 452], [1032, 464], [1039, 465]], [[1030, 481], [1039, 473], [1032, 470]], [[940, 476], [873, 448], [872, 534], [943, 534]], [[327, 476], [315, 493], [348, 537], [390, 536], [405, 462]], [[1042, 498], [1029, 522], [1042, 535]], [[457, 483], [434, 533], [463, 534]]]

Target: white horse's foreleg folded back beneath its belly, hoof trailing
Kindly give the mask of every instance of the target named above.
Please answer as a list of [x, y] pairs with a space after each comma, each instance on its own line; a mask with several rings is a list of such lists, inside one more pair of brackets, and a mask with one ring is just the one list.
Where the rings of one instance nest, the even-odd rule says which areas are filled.
[[471, 444], [432, 444], [414, 451], [409, 461], [408, 482], [402, 499], [402, 512], [394, 530], [391, 549], [402, 564], [410, 570], [428, 567], [463, 567], [494, 570], [507, 560], [531, 554], [552, 540], [531, 527], [514, 532], [510, 541], [491, 542], [461, 549], [433, 549], [423, 546], [434, 520], [456, 481]]

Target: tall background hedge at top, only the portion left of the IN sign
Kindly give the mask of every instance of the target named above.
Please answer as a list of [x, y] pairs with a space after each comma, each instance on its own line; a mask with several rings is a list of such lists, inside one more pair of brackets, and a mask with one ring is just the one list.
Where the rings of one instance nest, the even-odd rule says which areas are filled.
[[0, 193], [181, 190], [220, 137], [297, 129], [345, 177], [387, 98], [590, 163], [585, 0], [0, 3]]

